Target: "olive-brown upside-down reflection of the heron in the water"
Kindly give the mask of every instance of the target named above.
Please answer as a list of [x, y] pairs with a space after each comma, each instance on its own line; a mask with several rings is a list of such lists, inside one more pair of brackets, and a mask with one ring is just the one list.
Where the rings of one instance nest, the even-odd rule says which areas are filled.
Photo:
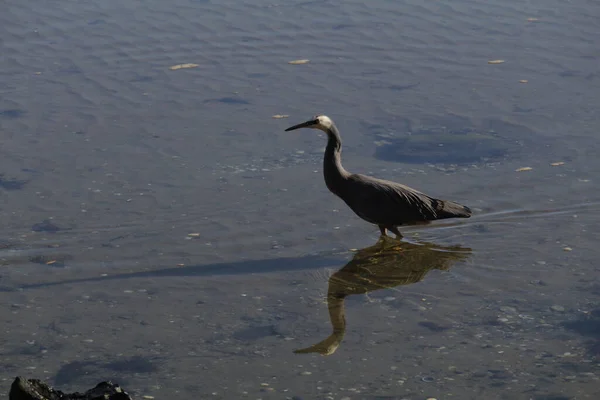
[[329, 278], [327, 306], [333, 333], [325, 340], [294, 353], [320, 353], [328, 356], [339, 347], [346, 332], [344, 300], [347, 296], [420, 282], [432, 269], [448, 270], [466, 260], [471, 249], [439, 246], [433, 243], [408, 243], [382, 236], [371, 246], [359, 250], [352, 260]]

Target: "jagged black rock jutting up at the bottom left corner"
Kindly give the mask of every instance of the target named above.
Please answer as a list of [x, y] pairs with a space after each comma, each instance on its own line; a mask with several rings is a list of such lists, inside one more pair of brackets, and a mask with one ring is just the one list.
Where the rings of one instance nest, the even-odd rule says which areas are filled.
[[16, 377], [10, 387], [9, 400], [132, 400], [118, 384], [100, 382], [85, 393], [63, 393], [39, 379]]

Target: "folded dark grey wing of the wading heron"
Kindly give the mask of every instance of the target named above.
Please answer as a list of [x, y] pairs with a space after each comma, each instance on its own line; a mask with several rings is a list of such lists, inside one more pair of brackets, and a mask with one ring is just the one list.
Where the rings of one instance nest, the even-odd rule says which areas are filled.
[[353, 174], [349, 177], [355, 198], [348, 205], [375, 224], [403, 224], [437, 216], [438, 200], [396, 182]]

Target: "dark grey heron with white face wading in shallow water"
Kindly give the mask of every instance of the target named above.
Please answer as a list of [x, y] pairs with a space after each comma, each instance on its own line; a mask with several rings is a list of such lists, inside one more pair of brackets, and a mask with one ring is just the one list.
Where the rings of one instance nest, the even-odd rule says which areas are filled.
[[285, 131], [300, 128], [318, 129], [327, 134], [323, 159], [325, 185], [356, 215], [377, 225], [381, 236], [387, 236], [387, 231], [390, 231], [397, 238], [402, 238], [398, 229], [402, 225], [427, 224], [438, 219], [471, 216], [471, 209], [462, 204], [430, 197], [400, 183], [346, 171], [342, 166], [340, 132], [328, 116], [315, 115]]

